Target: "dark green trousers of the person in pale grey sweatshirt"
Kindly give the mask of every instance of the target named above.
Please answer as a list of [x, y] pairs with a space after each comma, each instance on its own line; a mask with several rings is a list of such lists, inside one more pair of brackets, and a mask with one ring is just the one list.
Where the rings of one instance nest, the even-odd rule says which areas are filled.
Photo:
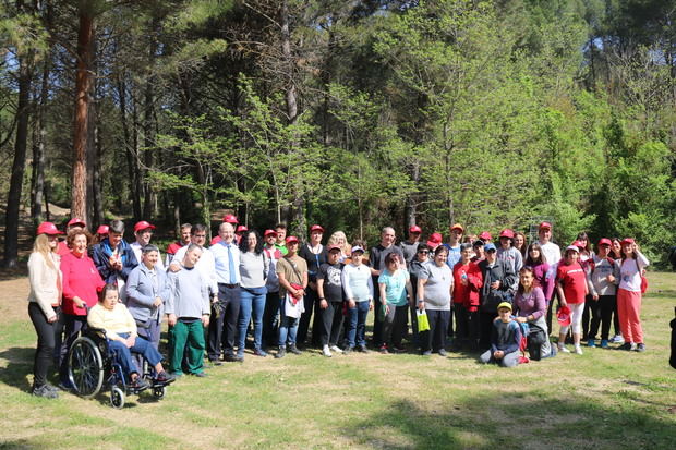
[[[173, 327], [169, 327], [170, 372], [174, 374], [182, 372], [198, 374], [202, 372], [204, 349], [204, 327], [202, 326], [202, 320], [192, 323], [178, 320]], [[188, 352], [188, 357], [185, 358], [185, 364], [182, 365], [184, 352]]]

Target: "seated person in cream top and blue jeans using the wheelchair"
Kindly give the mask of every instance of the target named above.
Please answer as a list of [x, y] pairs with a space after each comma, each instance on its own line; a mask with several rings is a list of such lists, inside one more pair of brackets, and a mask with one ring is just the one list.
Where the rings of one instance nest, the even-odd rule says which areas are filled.
[[116, 362], [120, 364], [123, 375], [133, 389], [150, 387], [143, 379], [131, 352], [140, 353], [155, 368], [156, 384], [169, 384], [173, 377], [165, 372], [161, 354], [145, 339], [138, 337], [136, 321], [126, 306], [119, 302], [118, 288], [108, 283], [99, 295], [97, 305], [89, 309], [87, 324], [92, 328], [106, 331], [109, 349], [114, 353]]

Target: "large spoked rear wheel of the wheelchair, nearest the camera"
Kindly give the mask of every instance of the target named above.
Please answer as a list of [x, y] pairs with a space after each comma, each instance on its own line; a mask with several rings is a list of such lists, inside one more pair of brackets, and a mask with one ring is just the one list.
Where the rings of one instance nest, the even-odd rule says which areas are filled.
[[89, 399], [104, 384], [104, 360], [94, 341], [80, 337], [68, 353], [68, 376], [79, 396]]

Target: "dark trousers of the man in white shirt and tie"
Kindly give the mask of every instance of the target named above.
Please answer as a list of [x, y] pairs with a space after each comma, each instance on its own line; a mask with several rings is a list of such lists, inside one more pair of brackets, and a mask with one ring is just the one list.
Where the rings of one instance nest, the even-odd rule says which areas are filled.
[[218, 302], [212, 305], [209, 319], [207, 342], [209, 361], [220, 360], [221, 345], [226, 355], [234, 354], [240, 303], [239, 284], [218, 283]]

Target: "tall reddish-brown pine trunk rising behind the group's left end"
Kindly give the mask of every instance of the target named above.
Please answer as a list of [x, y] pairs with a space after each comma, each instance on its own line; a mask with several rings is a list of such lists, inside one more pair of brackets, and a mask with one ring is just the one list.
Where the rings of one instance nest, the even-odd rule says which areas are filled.
[[73, 181], [71, 217], [87, 216], [87, 141], [89, 135], [89, 89], [94, 17], [86, 5], [80, 8], [77, 32], [77, 74], [75, 78], [75, 125], [73, 136]]

